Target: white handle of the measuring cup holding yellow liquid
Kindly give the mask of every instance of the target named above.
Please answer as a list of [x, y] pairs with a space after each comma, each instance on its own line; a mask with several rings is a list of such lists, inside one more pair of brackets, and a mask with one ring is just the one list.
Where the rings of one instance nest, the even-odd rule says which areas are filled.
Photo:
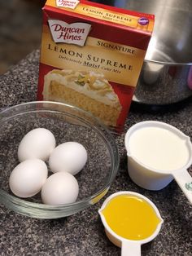
[[141, 256], [141, 245], [134, 241], [122, 241], [121, 256]]

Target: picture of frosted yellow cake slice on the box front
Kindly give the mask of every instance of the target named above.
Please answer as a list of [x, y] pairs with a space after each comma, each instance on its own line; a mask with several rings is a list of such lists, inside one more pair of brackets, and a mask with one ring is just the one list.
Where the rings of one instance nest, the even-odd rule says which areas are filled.
[[118, 96], [103, 73], [54, 69], [44, 77], [43, 99], [72, 104], [116, 126], [121, 112]]

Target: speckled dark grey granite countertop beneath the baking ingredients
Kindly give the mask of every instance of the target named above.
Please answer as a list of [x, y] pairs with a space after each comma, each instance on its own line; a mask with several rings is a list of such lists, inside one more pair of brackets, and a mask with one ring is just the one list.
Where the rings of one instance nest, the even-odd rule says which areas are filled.
[[[36, 100], [39, 51], [12, 67], [0, 78], [0, 108]], [[165, 121], [192, 138], [192, 102], [165, 113], [132, 109], [125, 129], [138, 121]], [[137, 187], [126, 167], [124, 133], [116, 136], [120, 150], [120, 169], [107, 193], [129, 190], [147, 196], [159, 208], [164, 224], [154, 241], [142, 245], [142, 255], [192, 255], [192, 206], [175, 181], [159, 192]], [[189, 169], [192, 174], [192, 167]], [[103, 200], [107, 197], [105, 196]], [[36, 219], [16, 214], [0, 205], [1, 255], [120, 255], [120, 249], [108, 241], [98, 209], [103, 203], [67, 218]], [[134, 256], [134, 255], [133, 255]]]

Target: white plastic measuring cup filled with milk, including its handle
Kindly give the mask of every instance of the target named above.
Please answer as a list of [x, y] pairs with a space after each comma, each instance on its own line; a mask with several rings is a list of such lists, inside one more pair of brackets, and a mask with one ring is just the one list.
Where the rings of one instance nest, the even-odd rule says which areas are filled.
[[142, 121], [124, 138], [129, 176], [138, 186], [159, 190], [175, 179], [192, 204], [192, 144], [176, 127], [161, 121]]

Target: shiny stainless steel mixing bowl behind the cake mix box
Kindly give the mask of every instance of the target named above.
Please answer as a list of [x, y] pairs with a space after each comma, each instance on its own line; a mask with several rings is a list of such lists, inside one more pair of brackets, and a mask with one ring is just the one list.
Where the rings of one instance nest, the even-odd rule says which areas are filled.
[[191, 0], [93, 2], [155, 14], [155, 29], [133, 101], [162, 105], [192, 96]]

